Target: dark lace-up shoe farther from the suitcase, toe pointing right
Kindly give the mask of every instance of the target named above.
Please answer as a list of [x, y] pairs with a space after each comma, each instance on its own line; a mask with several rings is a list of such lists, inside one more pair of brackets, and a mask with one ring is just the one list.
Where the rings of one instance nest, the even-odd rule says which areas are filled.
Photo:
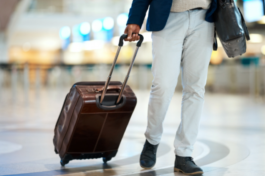
[[193, 158], [191, 157], [181, 157], [176, 155], [175, 159], [175, 172], [183, 172], [186, 175], [201, 175], [203, 174], [203, 170], [201, 167], [197, 166]]

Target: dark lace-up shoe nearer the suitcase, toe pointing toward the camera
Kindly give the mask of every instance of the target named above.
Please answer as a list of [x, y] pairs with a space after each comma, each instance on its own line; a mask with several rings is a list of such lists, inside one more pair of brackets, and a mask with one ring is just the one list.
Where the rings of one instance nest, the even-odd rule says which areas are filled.
[[155, 166], [156, 161], [156, 151], [158, 145], [152, 145], [147, 140], [145, 141], [145, 145], [143, 151], [140, 156], [140, 166], [144, 169], [151, 169]]

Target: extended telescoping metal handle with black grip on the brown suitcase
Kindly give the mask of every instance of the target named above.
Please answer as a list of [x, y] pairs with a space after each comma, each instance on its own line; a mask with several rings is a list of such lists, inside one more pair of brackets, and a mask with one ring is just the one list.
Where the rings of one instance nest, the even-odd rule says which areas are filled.
[[[135, 34], [135, 33], [132, 33], [132, 34]], [[125, 80], [124, 80], [124, 82], [123, 82], [123, 84], [122, 84], [122, 88], [121, 88], [121, 90], [120, 90], [119, 97], [118, 97], [118, 99], [116, 100], [116, 104], [118, 104], [118, 103], [120, 102], [120, 99], [122, 98], [122, 94], [123, 94], [124, 89], [125, 89], [125, 87], [126, 87], [126, 84], [127, 84], [127, 81], [128, 81], [129, 75], [130, 75], [130, 72], [131, 72], [131, 70], [132, 70], [132, 66], [133, 66], [133, 63], [134, 63], [135, 57], [136, 57], [137, 52], [138, 52], [138, 49], [139, 49], [139, 47], [141, 46], [141, 44], [143, 43], [143, 35], [141, 35], [141, 34], [138, 34], [138, 35], [140, 36], [140, 40], [139, 40], [139, 41], [137, 42], [137, 44], [136, 44], [136, 50], [135, 50], [135, 53], [134, 53], [134, 55], [133, 55], [133, 57], [132, 57], [132, 61], [131, 61], [131, 63], [130, 63], [130, 67], [129, 67], [128, 73], [127, 73], [127, 75], [126, 75], [126, 77], [125, 77]], [[114, 61], [113, 61], [113, 63], [112, 63], [112, 66], [111, 66], [111, 69], [110, 69], [110, 74], [109, 74], [109, 76], [108, 76], [108, 78], [107, 78], [107, 81], [106, 81], [106, 83], [105, 83], [105, 86], [104, 86], [104, 89], [103, 89], [103, 92], [102, 92], [102, 95], [101, 95], [101, 99], [100, 99], [100, 104], [102, 104], [103, 99], [104, 99], [104, 97], [105, 97], [105, 94], [106, 94], [106, 92], [107, 92], [107, 87], [108, 87], [109, 84], [110, 84], [110, 79], [111, 79], [112, 72], [113, 72], [114, 67], [115, 67], [115, 65], [116, 65], [116, 61], [117, 61], [117, 58], [118, 58], [118, 56], [119, 56], [120, 49], [121, 49], [121, 47], [123, 46], [123, 40], [124, 40], [125, 38], [127, 38], [127, 37], [128, 37], [128, 34], [123, 34], [122, 36], [120, 36], [120, 41], [119, 41], [119, 44], [118, 44], [119, 47], [118, 47], [117, 53], [116, 53], [116, 55], [115, 55]]]

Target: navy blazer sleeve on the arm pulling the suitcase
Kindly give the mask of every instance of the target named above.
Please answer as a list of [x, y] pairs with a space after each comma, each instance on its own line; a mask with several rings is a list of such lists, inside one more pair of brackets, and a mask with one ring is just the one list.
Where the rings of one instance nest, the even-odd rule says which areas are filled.
[[150, 2], [151, 0], [133, 0], [127, 24], [138, 24], [142, 27]]

